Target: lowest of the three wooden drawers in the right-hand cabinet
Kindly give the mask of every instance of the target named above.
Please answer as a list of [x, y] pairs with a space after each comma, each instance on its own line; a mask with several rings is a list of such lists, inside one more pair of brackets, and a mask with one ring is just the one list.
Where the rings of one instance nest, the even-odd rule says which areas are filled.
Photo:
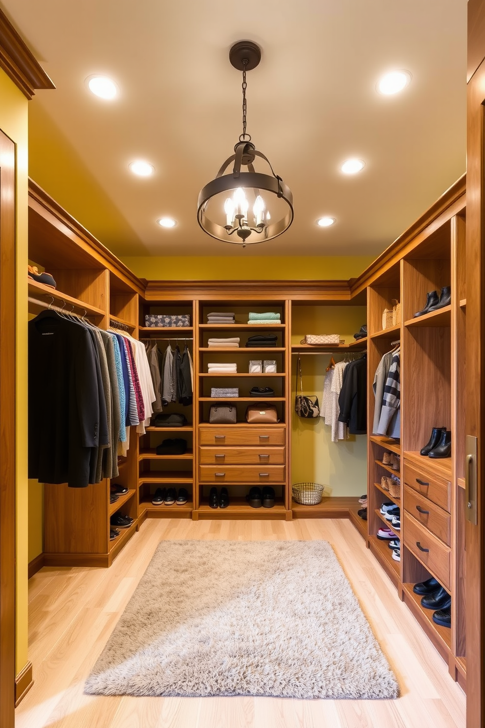
[[[404, 545], [418, 561], [450, 592], [452, 582], [452, 550], [409, 513], [404, 513]], [[418, 545], [419, 544], [419, 545]], [[428, 549], [428, 550], [423, 550]]]

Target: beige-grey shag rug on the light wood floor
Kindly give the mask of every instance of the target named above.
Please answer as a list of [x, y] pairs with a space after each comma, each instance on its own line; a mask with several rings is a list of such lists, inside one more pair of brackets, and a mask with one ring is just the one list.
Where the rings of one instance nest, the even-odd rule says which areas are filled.
[[163, 541], [89, 695], [396, 698], [325, 541]]

